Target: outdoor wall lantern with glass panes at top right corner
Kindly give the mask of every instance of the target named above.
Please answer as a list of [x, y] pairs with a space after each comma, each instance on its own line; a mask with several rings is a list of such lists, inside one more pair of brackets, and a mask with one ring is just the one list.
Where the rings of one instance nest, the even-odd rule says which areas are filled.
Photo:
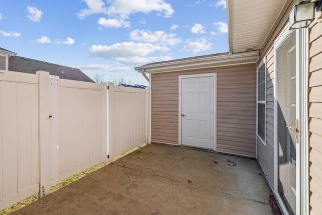
[[315, 19], [315, 11], [322, 11], [322, 0], [305, 0], [294, 5], [288, 15], [289, 29], [306, 28]]

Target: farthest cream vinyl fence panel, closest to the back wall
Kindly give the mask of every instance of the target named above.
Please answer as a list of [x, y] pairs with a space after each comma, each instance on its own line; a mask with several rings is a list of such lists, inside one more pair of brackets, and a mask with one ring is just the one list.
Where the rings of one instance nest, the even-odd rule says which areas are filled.
[[110, 157], [147, 143], [148, 89], [109, 83]]

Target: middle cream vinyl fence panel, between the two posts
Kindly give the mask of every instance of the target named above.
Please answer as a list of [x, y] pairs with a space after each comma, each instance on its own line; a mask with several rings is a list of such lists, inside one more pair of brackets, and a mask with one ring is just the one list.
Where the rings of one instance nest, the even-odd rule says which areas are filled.
[[59, 80], [59, 181], [103, 161], [102, 105], [101, 84]]

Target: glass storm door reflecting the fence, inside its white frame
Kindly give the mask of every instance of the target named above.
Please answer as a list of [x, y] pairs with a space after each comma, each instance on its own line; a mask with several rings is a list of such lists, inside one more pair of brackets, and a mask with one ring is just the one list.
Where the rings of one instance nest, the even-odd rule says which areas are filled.
[[291, 33], [276, 49], [277, 59], [277, 186], [289, 214], [296, 214], [296, 142], [299, 108], [296, 97], [296, 36]]

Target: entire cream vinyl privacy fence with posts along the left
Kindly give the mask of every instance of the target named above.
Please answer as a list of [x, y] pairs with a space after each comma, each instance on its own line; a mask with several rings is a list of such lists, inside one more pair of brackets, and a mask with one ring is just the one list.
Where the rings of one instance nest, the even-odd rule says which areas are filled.
[[0, 70], [0, 210], [146, 143], [147, 106], [147, 89]]

